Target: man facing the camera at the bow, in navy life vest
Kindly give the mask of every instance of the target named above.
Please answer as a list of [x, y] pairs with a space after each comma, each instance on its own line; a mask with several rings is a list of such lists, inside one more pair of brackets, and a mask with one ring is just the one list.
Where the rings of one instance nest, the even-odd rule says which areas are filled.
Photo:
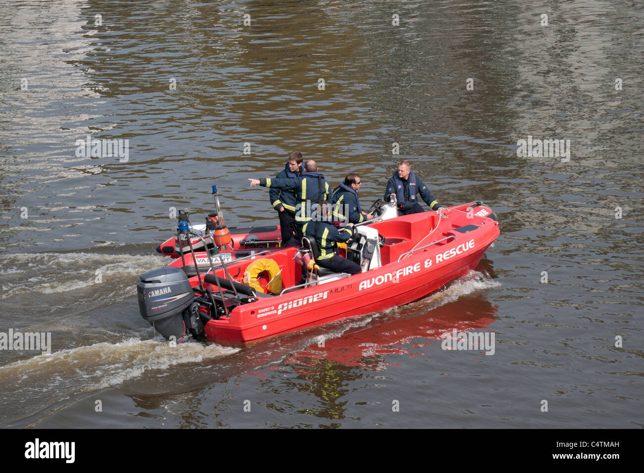
[[399, 215], [418, 214], [425, 210], [418, 203], [417, 193], [421, 194], [422, 199], [430, 206], [431, 210], [442, 209], [439, 201], [433, 198], [421, 178], [413, 173], [412, 164], [407, 160], [401, 161], [398, 165], [398, 171], [393, 173], [392, 178], [387, 183], [384, 200], [390, 202], [395, 196], [398, 201]]

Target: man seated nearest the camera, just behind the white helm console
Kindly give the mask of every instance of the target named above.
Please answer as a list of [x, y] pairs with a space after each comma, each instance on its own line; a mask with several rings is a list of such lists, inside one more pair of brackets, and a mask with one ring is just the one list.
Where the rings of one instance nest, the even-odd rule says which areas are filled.
[[313, 205], [317, 207], [316, 215], [302, 228], [307, 237], [315, 237], [319, 248], [316, 264], [336, 273], [358, 274], [362, 272], [359, 264], [341, 257], [337, 251], [337, 243], [346, 243], [354, 234], [354, 224], [346, 227], [336, 227], [331, 220], [331, 204], [322, 201]]

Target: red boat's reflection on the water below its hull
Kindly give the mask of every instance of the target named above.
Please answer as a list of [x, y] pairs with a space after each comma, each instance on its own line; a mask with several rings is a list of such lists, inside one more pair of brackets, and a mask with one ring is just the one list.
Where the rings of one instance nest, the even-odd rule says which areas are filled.
[[[485, 270], [486, 263], [489, 261], [483, 260], [477, 269]], [[347, 402], [355, 405], [384, 402], [381, 399], [384, 392], [377, 394], [380, 391], [372, 393], [372, 396], [365, 396], [363, 393], [361, 399], [355, 399], [351, 393], [356, 382], [373, 387], [386, 385], [388, 389], [398, 392], [400, 389], [412, 389], [407, 384], [390, 385], [395, 376], [385, 377], [384, 371], [401, 366], [406, 369], [404, 364], [408, 357], [425, 357], [431, 363], [432, 358], [437, 357], [436, 350], [441, 350], [442, 333], [451, 332], [453, 329], [466, 333], [488, 332], [493, 329], [498, 306], [491, 304], [486, 294], [481, 291], [498, 286], [498, 283], [488, 274], [488, 271], [485, 274], [471, 272], [441, 292], [420, 301], [368, 319], [356, 318], [357, 320], [351, 322], [354, 326], [338, 337], [325, 338], [324, 335], [316, 335], [316, 342], [288, 355], [281, 362], [281, 367], [272, 368], [282, 373], [292, 373], [279, 380], [277, 385], [273, 386], [274, 389], [285, 393], [289, 399], [290, 396], [295, 396], [289, 404], [298, 413], [311, 416], [311, 427], [331, 428], [341, 424], [320, 421], [346, 419]], [[363, 324], [360, 325], [359, 320]], [[347, 320], [344, 322], [346, 324]], [[483, 348], [475, 349], [468, 356], [486, 358], [482, 351]], [[428, 377], [447, 374], [442, 371], [451, 371], [452, 367], [437, 366]], [[249, 375], [263, 378], [270, 376], [271, 372], [272, 370], [256, 371]], [[370, 375], [370, 372], [373, 374]], [[303, 393], [309, 395], [302, 396]], [[391, 400], [386, 401], [389, 402]], [[270, 403], [266, 407], [280, 412], [285, 409], [285, 406], [279, 403]], [[391, 412], [391, 406], [386, 407], [385, 411]], [[355, 420], [369, 422], [371, 416], [375, 416], [374, 425], [381, 422], [377, 416], [382, 414], [382, 409], [365, 409], [360, 412], [365, 418], [361, 415]]]

